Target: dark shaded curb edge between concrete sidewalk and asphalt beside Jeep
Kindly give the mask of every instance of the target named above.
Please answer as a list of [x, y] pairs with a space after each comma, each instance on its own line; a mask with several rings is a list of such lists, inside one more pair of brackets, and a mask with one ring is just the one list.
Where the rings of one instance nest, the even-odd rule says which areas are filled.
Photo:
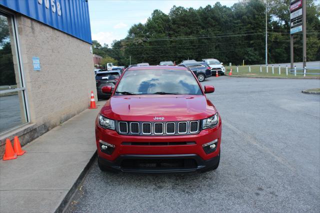
[[87, 174], [89, 168], [91, 167], [91, 165], [93, 164], [95, 158], [96, 158], [96, 151], [92, 154], [90, 160], [88, 161], [88, 163], [85, 165], [85, 167], [83, 168], [83, 170], [81, 171], [81, 173], [79, 174], [78, 178], [74, 181], [72, 187], [70, 188], [70, 190], [67, 192], [67, 194], [65, 195], [65, 197], [63, 198], [63, 200], [61, 201], [61, 203], [59, 204], [59, 206], [55, 209], [55, 213], [62, 213], [65, 211], [65, 209], [68, 207], [69, 202], [71, 201], [71, 198], [73, 197], [73, 194], [77, 188], [77, 186], [82, 182], [82, 180], [84, 179], [85, 175]]

